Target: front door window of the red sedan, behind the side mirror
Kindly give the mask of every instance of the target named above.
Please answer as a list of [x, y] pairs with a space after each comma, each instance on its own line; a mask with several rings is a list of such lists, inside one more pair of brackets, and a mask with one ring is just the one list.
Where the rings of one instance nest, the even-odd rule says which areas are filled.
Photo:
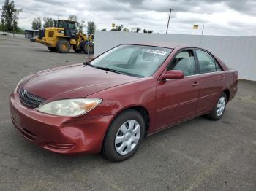
[[195, 75], [195, 57], [192, 50], [179, 52], [168, 66], [168, 70], [184, 71], [184, 77]]

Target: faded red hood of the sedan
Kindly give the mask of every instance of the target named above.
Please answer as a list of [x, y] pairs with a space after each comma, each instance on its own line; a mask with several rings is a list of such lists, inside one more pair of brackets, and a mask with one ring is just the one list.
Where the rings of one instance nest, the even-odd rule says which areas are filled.
[[101, 90], [138, 79], [124, 74], [76, 64], [40, 71], [22, 82], [27, 92], [48, 101], [61, 98], [83, 98]]

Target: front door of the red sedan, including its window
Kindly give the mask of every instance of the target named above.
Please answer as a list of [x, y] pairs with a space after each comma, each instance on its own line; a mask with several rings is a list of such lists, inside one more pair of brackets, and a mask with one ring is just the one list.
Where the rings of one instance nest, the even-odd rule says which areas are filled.
[[165, 128], [193, 116], [199, 96], [200, 79], [199, 75], [196, 75], [192, 49], [178, 52], [167, 70], [184, 71], [184, 79], [157, 82], [156, 120], [159, 128]]

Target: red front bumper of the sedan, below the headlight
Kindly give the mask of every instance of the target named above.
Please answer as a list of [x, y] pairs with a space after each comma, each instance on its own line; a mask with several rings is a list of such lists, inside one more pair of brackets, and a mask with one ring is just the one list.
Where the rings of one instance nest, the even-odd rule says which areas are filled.
[[37, 112], [10, 95], [10, 112], [15, 128], [30, 141], [62, 154], [98, 153], [113, 119], [110, 116], [59, 117]]

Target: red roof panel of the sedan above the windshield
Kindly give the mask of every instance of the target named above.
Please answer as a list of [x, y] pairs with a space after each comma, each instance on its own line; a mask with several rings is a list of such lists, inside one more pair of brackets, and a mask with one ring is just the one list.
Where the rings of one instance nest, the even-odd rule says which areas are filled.
[[189, 46], [187, 44], [178, 44], [178, 43], [169, 43], [169, 42], [136, 42], [136, 43], [130, 43], [130, 44], [152, 46], [152, 47], [166, 47], [171, 49], [195, 47], [195, 46]]

